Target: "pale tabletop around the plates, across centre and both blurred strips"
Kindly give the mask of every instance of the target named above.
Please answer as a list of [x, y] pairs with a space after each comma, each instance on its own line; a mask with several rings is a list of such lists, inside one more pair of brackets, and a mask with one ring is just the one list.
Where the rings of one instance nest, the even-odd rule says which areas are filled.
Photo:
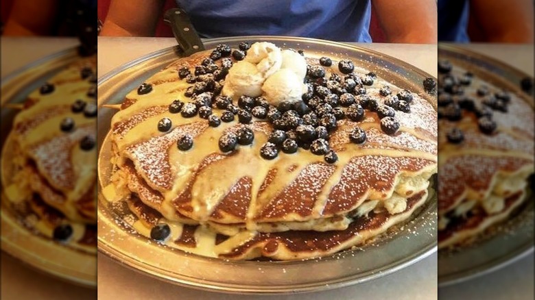
[[[77, 45], [77, 40], [70, 38], [1, 38], [1, 77], [17, 68], [62, 49]], [[113, 68], [130, 62], [147, 53], [171, 47], [176, 44], [173, 38], [99, 38], [98, 73], [102, 76]], [[31, 45], [31, 47], [29, 46]], [[366, 47], [404, 60], [427, 73], [436, 76], [435, 45], [389, 45], [360, 44]], [[475, 51], [497, 59], [508, 58], [506, 62], [526, 73], [533, 74], [533, 47], [510, 47], [506, 45], [470, 45]], [[126, 49], [126, 50], [125, 50]], [[520, 51], [523, 55], [508, 55]], [[387, 275], [372, 282], [318, 292], [314, 294], [289, 295], [285, 299], [354, 299], [371, 297], [371, 299], [437, 299], [438, 288], [436, 254], [409, 266], [392, 275]], [[441, 299], [457, 299], [460, 295], [492, 295], [487, 299], [533, 299], [521, 297], [533, 295], [533, 257], [524, 258], [496, 273], [479, 277], [466, 284], [459, 284], [440, 289]], [[28, 282], [32, 282], [29, 288]], [[492, 282], [492, 284], [488, 284]], [[35, 273], [32, 268], [24, 266], [5, 253], [1, 254], [1, 297], [12, 299], [91, 299], [95, 290], [80, 288], [60, 282], [45, 274]], [[425, 286], [427, 288], [421, 288]], [[400, 295], [400, 292], [403, 295]], [[250, 297], [216, 294], [172, 286], [157, 279], [132, 272], [104, 255], [98, 256], [98, 297], [99, 299], [275, 299], [275, 297]], [[476, 294], [477, 293], [477, 294]], [[442, 297], [444, 296], [444, 297]], [[501, 297], [500, 297], [501, 296]], [[516, 297], [518, 296], [518, 297]], [[280, 297], [277, 297], [279, 299]], [[479, 297], [477, 297], [479, 298]]]

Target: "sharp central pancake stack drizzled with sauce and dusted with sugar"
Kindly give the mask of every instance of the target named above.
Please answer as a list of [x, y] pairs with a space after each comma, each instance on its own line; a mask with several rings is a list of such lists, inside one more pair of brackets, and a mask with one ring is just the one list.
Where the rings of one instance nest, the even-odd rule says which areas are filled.
[[[268, 121], [236, 119], [210, 127], [198, 115], [169, 112], [176, 99], [193, 101], [185, 96], [192, 84], [178, 71], [187, 67], [193, 73], [209, 55], [195, 53], [165, 67], [145, 80], [150, 92], [130, 92], [112, 118], [115, 173], [104, 196], [128, 203], [135, 217], [125, 221], [139, 233], [151, 236], [151, 229], [165, 223], [170, 229], [165, 245], [191, 253], [241, 260], [313, 258], [361, 245], [425, 202], [437, 169], [436, 111], [425, 99], [414, 94], [411, 112], [396, 112], [401, 127], [392, 136], [381, 131], [377, 113], [369, 110], [363, 121], [337, 121], [329, 138], [339, 158], [333, 164], [301, 148], [265, 160], [259, 149], [273, 131]], [[307, 63], [319, 65], [314, 58]], [[326, 77], [338, 73], [336, 65], [326, 68]], [[379, 95], [383, 85], [393, 95], [401, 90], [377, 79], [366, 90], [379, 103], [385, 99]], [[213, 108], [213, 114], [221, 112]], [[159, 132], [164, 117], [173, 125]], [[356, 125], [366, 131], [362, 145], [348, 137]], [[252, 145], [219, 150], [219, 137], [241, 127], [254, 132]], [[188, 151], [177, 148], [184, 134], [193, 137]]]

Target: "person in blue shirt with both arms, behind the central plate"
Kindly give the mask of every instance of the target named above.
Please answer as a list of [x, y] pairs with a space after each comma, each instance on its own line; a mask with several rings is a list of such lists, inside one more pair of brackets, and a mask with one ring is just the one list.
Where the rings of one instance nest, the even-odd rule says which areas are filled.
[[[372, 5], [389, 42], [436, 43], [436, 0], [177, 0], [203, 38], [302, 36], [371, 42]], [[161, 0], [112, 0], [101, 36], [154, 36]]]

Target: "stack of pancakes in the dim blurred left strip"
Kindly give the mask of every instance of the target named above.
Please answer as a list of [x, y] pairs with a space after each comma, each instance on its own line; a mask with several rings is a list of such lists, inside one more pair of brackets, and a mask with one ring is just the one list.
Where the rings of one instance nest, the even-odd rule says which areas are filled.
[[97, 223], [95, 70], [96, 56], [80, 58], [29, 94], [2, 153], [3, 199], [21, 223], [91, 253]]

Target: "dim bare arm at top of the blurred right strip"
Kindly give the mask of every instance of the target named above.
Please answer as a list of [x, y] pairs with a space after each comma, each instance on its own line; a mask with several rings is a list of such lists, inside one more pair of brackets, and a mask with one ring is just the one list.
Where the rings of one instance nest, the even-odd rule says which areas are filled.
[[532, 0], [472, 0], [470, 8], [486, 42], [533, 42]]

